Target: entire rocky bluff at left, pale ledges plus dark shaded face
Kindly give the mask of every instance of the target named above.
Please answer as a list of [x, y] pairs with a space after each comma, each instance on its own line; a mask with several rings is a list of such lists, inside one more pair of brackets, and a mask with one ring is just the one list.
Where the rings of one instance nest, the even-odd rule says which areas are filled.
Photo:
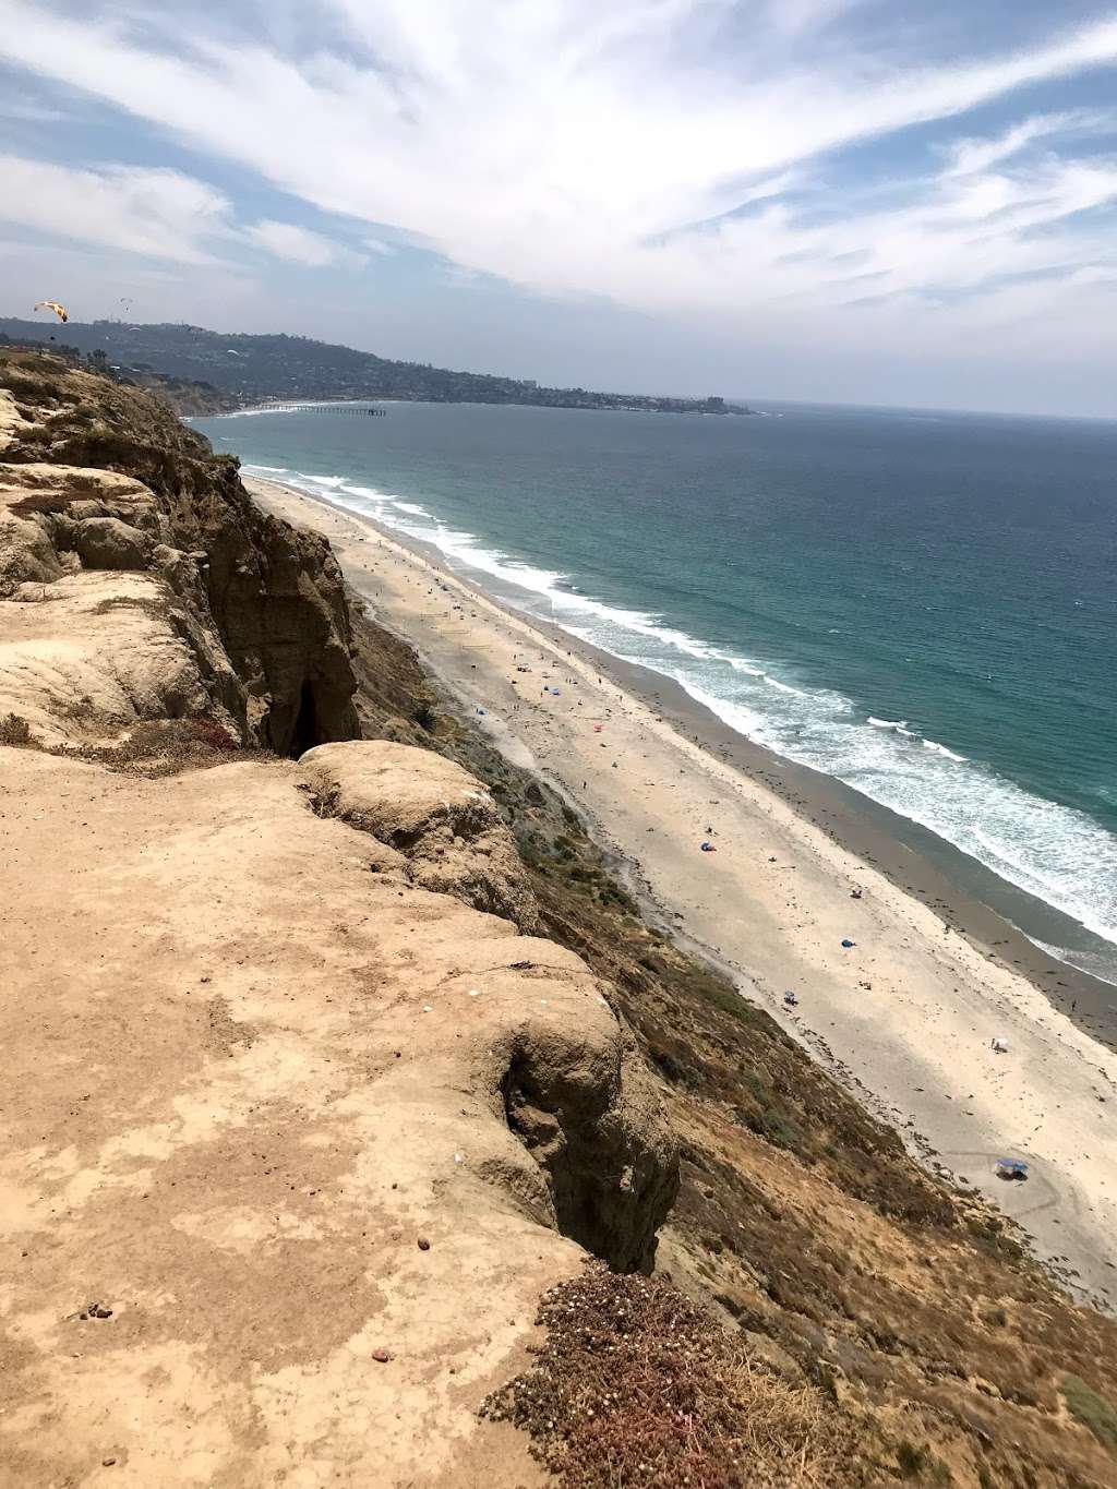
[[[349, 612], [323, 539], [261, 512], [237, 462], [143, 393], [33, 353], [0, 359], [0, 625], [9, 605], [116, 609], [112, 625], [85, 625], [80, 657], [24, 637], [0, 707], [27, 709], [51, 740], [112, 737], [161, 709], [286, 755], [359, 734]], [[69, 634], [61, 619], [31, 631]], [[156, 631], [173, 676], [152, 691]], [[67, 689], [76, 712], [58, 707]]]

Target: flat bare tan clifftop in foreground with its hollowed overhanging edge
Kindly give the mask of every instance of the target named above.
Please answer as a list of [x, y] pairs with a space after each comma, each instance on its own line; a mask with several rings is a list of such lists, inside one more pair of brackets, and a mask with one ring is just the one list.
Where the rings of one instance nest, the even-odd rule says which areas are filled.
[[477, 1409], [678, 1167], [605, 984], [287, 762], [0, 756], [12, 1482], [539, 1483]]

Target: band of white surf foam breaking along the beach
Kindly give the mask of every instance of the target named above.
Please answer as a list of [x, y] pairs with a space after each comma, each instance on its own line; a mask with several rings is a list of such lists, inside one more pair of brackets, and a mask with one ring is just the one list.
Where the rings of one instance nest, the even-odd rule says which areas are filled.
[[532, 615], [672, 677], [730, 728], [920, 823], [1117, 944], [1117, 838], [1084, 813], [1034, 797], [907, 719], [865, 716], [836, 691], [774, 676], [771, 664], [727, 654], [660, 615], [582, 594], [567, 575], [486, 546], [416, 502], [343, 476], [304, 479], [314, 482], [311, 490], [328, 488], [331, 500], [372, 511], [387, 527], [432, 543], [451, 563], [512, 585]]

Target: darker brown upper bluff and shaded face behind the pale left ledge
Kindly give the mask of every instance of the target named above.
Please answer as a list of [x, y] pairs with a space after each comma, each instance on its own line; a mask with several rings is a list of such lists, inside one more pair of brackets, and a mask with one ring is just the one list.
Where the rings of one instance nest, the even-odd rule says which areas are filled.
[[79, 567], [152, 572], [210, 716], [283, 755], [359, 733], [322, 538], [261, 512], [234, 460], [134, 389], [16, 351], [0, 353], [0, 596]]

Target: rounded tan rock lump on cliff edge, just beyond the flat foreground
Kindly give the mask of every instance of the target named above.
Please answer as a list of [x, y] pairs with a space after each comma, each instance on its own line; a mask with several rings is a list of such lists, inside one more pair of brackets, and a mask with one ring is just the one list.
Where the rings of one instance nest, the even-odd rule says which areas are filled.
[[511, 832], [489, 791], [460, 765], [387, 740], [322, 744], [299, 761], [322, 816], [395, 849], [411, 883], [539, 929]]

